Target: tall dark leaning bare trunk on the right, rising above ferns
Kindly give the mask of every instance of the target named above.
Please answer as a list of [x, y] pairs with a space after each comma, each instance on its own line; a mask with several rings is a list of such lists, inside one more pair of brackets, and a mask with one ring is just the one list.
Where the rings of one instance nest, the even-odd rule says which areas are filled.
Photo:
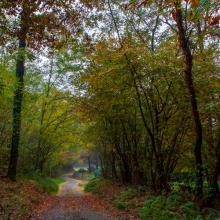
[[183, 17], [182, 10], [180, 6], [177, 5], [176, 10], [176, 22], [179, 33], [180, 48], [182, 49], [183, 55], [185, 57], [185, 82], [188, 87], [188, 92], [190, 96], [190, 103], [192, 107], [193, 119], [195, 124], [196, 141], [194, 144], [194, 157], [196, 164], [196, 195], [199, 198], [203, 196], [203, 166], [202, 166], [202, 125], [199, 117], [199, 110], [196, 101], [196, 93], [193, 85], [192, 78], [192, 54], [189, 48], [188, 39], [183, 28]]

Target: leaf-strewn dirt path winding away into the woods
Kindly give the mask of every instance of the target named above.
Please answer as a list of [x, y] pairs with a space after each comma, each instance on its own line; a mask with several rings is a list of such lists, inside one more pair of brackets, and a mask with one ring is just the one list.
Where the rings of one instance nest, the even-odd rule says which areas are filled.
[[86, 181], [61, 177], [66, 182], [60, 185], [56, 196], [49, 196], [33, 213], [32, 220], [131, 220], [139, 219], [116, 211], [111, 205], [96, 196], [84, 193], [79, 184]]

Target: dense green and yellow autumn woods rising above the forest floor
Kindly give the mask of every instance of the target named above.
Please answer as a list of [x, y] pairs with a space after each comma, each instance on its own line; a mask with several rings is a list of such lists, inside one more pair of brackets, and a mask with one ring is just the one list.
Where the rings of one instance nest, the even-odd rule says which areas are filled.
[[83, 150], [107, 179], [219, 193], [218, 0], [2, 1], [0, 20], [1, 176]]

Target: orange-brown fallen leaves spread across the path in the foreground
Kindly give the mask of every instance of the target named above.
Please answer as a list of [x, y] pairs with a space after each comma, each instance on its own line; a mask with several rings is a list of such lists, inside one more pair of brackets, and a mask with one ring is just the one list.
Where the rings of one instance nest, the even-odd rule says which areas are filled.
[[[108, 193], [109, 197], [112, 198], [115, 189], [113, 187], [110, 188], [109, 186], [105, 187], [108, 187], [109, 191], [105, 193], [104, 190], [106, 189], [102, 189], [103, 193], [105, 193], [105, 197]], [[134, 217], [126, 212], [115, 210], [113, 205], [108, 204], [108, 200], [108, 198], [99, 199], [96, 195], [89, 193], [84, 193], [81, 197], [48, 196], [34, 210], [31, 217], [32, 219], [52, 219], [51, 213], [56, 213], [57, 217], [62, 217], [61, 219], [63, 219], [63, 217], [69, 217], [69, 213], [72, 213], [71, 216], [73, 217], [74, 212], [77, 212], [78, 215], [82, 214], [83, 216], [90, 212], [93, 214], [93, 216], [102, 216], [102, 219], [140, 219], [139, 217]]]

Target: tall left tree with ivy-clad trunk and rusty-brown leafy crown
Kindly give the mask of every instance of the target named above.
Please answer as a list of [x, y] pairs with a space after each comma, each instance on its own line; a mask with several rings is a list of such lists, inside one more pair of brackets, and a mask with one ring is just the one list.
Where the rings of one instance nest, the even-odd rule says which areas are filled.
[[[24, 87], [24, 63], [26, 45], [29, 48], [40, 51], [47, 46], [61, 47], [70, 37], [71, 31], [79, 24], [79, 13], [74, 8], [74, 0], [66, 1], [32, 1], [17, 0], [3, 1], [1, 3], [0, 16], [7, 23], [9, 18], [13, 20], [15, 27], [9, 26], [2, 29], [2, 41], [7, 41], [5, 36], [18, 39], [18, 53], [16, 64], [16, 77], [18, 81], [14, 94], [13, 104], [13, 133], [11, 137], [11, 156], [7, 176], [16, 180], [16, 167], [18, 159], [18, 147], [21, 129], [21, 106]], [[68, 21], [70, 21], [68, 23]], [[3, 42], [4, 43], [4, 42]]]

